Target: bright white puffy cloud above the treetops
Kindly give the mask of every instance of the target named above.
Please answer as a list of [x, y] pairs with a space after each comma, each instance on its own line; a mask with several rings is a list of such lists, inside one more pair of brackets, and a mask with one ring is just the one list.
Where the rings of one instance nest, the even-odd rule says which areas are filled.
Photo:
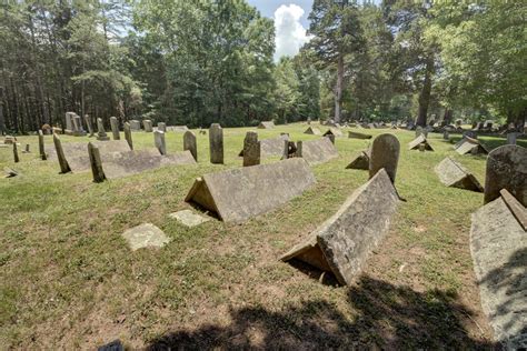
[[275, 11], [275, 60], [282, 56], [295, 56], [309, 41], [306, 29], [300, 23], [304, 9], [298, 4], [282, 4]]

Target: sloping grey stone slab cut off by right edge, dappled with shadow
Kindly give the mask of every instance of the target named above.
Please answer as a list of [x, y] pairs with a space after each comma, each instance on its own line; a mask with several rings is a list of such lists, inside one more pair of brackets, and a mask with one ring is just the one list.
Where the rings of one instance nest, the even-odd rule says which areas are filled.
[[473, 213], [470, 252], [481, 307], [506, 350], [527, 343], [527, 234], [497, 198]]

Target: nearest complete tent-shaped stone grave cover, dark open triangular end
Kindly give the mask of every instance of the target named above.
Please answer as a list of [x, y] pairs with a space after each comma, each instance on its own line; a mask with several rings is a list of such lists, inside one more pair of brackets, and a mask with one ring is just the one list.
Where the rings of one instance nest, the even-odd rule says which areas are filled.
[[344, 285], [350, 284], [388, 232], [398, 199], [388, 173], [380, 170], [281, 260], [298, 259], [331, 272]]

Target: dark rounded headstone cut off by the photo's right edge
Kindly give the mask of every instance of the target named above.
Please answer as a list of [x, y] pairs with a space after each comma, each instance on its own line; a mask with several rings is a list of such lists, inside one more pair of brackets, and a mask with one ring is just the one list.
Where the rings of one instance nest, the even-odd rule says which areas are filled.
[[488, 154], [485, 203], [499, 198], [501, 189], [507, 189], [524, 207], [527, 205], [527, 149], [503, 146]]

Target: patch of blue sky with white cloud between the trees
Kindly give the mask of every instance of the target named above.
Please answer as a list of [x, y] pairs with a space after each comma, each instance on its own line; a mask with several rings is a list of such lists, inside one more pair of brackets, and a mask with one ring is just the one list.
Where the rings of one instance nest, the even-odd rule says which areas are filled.
[[282, 56], [295, 56], [309, 40], [306, 30], [309, 28], [308, 16], [312, 0], [247, 0], [265, 17], [275, 21], [275, 61]]

